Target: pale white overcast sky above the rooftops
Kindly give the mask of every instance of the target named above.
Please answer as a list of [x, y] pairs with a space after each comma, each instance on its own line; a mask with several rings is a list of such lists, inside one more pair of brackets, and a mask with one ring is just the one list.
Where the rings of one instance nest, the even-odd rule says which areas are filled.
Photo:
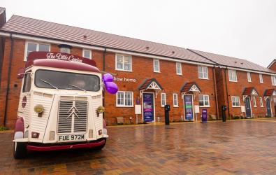
[[276, 59], [275, 0], [13, 1], [7, 20], [22, 15], [268, 66]]

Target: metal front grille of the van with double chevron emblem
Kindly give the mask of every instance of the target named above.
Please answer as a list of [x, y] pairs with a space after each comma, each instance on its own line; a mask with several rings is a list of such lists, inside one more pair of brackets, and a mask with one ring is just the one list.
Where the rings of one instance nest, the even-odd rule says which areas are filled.
[[87, 101], [59, 101], [59, 134], [86, 132]]

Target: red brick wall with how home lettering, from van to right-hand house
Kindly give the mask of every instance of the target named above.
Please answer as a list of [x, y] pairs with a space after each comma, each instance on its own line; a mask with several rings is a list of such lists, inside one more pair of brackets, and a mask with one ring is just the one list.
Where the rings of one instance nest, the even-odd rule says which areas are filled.
[[[181, 99], [180, 89], [186, 82], [195, 81], [202, 90], [202, 94], [208, 94], [210, 97], [209, 114], [216, 115], [215, 108], [215, 90], [213, 84], [212, 68], [208, 69], [209, 80], [203, 80], [198, 78], [198, 66], [193, 64], [182, 63], [182, 76], [176, 74], [175, 62], [168, 62], [160, 60], [161, 73], [154, 73], [153, 71], [153, 59], [145, 57], [132, 56], [132, 72], [127, 71], [115, 71], [115, 53], [108, 52], [106, 54], [106, 71], [111, 73], [117, 73], [118, 78], [136, 78], [136, 83], [120, 82], [117, 81], [119, 90], [133, 91], [133, 102], [136, 104], [136, 98], [140, 98], [140, 92], [138, 87], [145, 78], [156, 78], [160, 85], [164, 88], [162, 93], [166, 93], [166, 103], [170, 104], [170, 120], [180, 120], [181, 116], [184, 116], [183, 99]], [[178, 94], [178, 106], [173, 107], [173, 93]], [[164, 108], [161, 107], [161, 94], [157, 95], [155, 100], [155, 116], [161, 118], [164, 121]], [[140, 98], [140, 102], [142, 99]], [[194, 99], [194, 104], [198, 104], [198, 95]], [[133, 119], [136, 117], [134, 114], [134, 107], [116, 107], [115, 95], [106, 94], [106, 113], [105, 118], [108, 119], [108, 124], [115, 123], [115, 117], [123, 116], [126, 121], [129, 121], [129, 117]], [[201, 108], [203, 109], [203, 108]], [[200, 109], [200, 110], [201, 110]], [[198, 120], [200, 120], [198, 114]], [[142, 116], [139, 115], [140, 120]]]

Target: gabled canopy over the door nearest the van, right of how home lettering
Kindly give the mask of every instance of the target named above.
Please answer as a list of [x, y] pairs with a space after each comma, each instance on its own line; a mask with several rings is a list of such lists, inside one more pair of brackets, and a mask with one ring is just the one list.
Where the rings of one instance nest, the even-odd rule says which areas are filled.
[[156, 98], [157, 93], [163, 90], [163, 87], [161, 87], [157, 79], [151, 78], [151, 79], [145, 79], [142, 85], [138, 87], [138, 90], [140, 90], [140, 97], [142, 97], [142, 94], [145, 90], [154, 90], [155, 98]]

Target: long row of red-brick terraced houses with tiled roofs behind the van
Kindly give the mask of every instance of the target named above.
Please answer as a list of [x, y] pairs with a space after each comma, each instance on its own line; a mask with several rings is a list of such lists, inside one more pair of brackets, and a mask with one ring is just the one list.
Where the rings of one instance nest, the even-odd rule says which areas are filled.
[[112, 73], [119, 92], [104, 95], [108, 125], [118, 117], [124, 123], [136, 123], [136, 117], [138, 122], [164, 121], [166, 104], [171, 107], [170, 120], [177, 121], [201, 120], [202, 109], [219, 119], [223, 105], [228, 106], [228, 116], [275, 115], [276, 72], [245, 59], [17, 15], [2, 23], [0, 125], [15, 123], [22, 83], [17, 73], [32, 51], [94, 59], [103, 73]]

